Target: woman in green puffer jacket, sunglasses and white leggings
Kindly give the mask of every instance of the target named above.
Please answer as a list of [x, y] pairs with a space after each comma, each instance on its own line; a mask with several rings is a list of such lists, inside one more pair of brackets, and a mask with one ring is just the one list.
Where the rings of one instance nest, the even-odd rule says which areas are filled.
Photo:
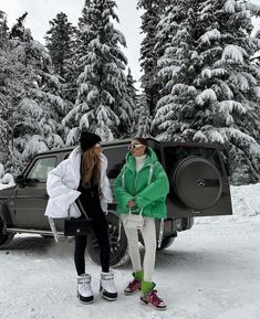
[[[125, 295], [133, 295], [142, 290], [141, 301], [156, 309], [166, 309], [165, 302], [154, 289], [153, 273], [156, 255], [156, 219], [167, 215], [166, 195], [169, 191], [168, 178], [155, 152], [147, 147], [144, 138], [132, 140], [126, 163], [115, 182], [115, 199], [117, 213], [121, 214], [128, 242], [129, 256], [133, 264], [133, 280], [126, 286]], [[127, 227], [126, 216], [142, 211], [145, 217], [141, 230], [145, 256], [143, 267], [138, 249], [138, 233], [136, 228]]]

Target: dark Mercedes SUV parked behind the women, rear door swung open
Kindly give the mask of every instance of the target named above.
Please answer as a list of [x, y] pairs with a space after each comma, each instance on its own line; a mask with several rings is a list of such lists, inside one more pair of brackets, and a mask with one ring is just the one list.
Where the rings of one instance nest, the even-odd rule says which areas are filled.
[[[111, 184], [124, 164], [129, 140], [103, 142], [103, 152], [108, 159], [107, 176]], [[194, 217], [232, 214], [230, 189], [223, 157], [217, 145], [197, 142], [173, 142], [148, 139], [148, 146], [156, 152], [165, 168], [170, 192], [167, 196], [168, 215], [164, 222], [164, 236], [158, 249], [167, 248], [177, 232], [189, 230]], [[0, 247], [13, 238], [15, 233], [33, 233], [43, 237], [51, 236], [44, 211], [48, 201], [45, 182], [48, 172], [64, 160], [71, 148], [62, 148], [37, 155], [15, 187], [0, 191]], [[111, 265], [127, 259], [127, 241], [122, 227], [118, 238], [118, 217], [116, 203], [108, 206], [108, 230], [111, 240]], [[63, 220], [55, 225], [63, 235]], [[159, 223], [156, 225], [157, 236]], [[142, 236], [139, 236], [143, 243]], [[98, 263], [98, 245], [90, 234], [87, 252]]]

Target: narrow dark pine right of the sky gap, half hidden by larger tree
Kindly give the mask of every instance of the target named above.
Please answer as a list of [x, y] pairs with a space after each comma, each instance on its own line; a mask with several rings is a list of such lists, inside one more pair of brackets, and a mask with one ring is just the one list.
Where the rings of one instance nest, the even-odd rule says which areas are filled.
[[160, 50], [156, 50], [157, 25], [162, 14], [167, 9], [169, 0], [139, 0], [137, 8], [143, 9], [142, 33], [145, 34], [141, 43], [141, 67], [144, 75], [141, 77], [142, 87], [146, 94], [149, 114], [154, 115], [159, 99], [160, 83], [158, 81], [157, 61]]

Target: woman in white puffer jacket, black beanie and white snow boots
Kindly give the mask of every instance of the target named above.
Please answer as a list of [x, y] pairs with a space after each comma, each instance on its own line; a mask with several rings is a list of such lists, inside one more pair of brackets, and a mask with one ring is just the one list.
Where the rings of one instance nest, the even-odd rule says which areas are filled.
[[[81, 146], [48, 176], [46, 191], [50, 195], [45, 215], [52, 219], [85, 219], [77, 208], [77, 199], [92, 219], [93, 232], [100, 245], [100, 293], [108, 300], [117, 298], [114, 274], [110, 270], [110, 240], [104, 212], [112, 202], [112, 191], [106, 177], [107, 160], [102, 153], [101, 138], [89, 131], [81, 134]], [[93, 302], [91, 275], [85, 274], [86, 235], [75, 236], [74, 262], [77, 272], [77, 297], [84, 304]]]

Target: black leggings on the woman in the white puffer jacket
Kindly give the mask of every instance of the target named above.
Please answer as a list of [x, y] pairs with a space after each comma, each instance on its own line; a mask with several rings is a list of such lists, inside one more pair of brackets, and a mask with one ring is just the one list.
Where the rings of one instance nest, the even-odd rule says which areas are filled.
[[[110, 272], [110, 240], [107, 234], [107, 222], [105, 214], [102, 210], [96, 210], [92, 214], [87, 212], [87, 215], [92, 217], [93, 232], [97, 238], [100, 246], [100, 260], [102, 272]], [[85, 247], [86, 247], [86, 236], [75, 236], [75, 251], [74, 251], [74, 262], [77, 275], [85, 274]]]

